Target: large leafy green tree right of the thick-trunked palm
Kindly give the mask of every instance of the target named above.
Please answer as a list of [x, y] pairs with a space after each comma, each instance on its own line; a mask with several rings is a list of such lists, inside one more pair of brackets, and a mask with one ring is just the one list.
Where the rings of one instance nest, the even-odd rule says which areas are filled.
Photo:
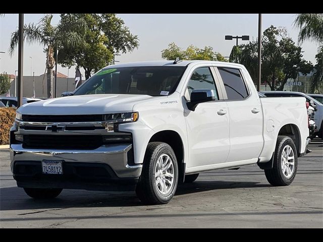
[[[68, 24], [71, 14], [61, 14]], [[115, 14], [74, 14], [86, 23], [85, 44], [62, 46], [58, 61], [63, 67], [76, 65], [85, 70], [85, 78], [113, 62], [114, 54], [133, 51], [139, 46], [138, 36], [130, 33], [124, 21]]]

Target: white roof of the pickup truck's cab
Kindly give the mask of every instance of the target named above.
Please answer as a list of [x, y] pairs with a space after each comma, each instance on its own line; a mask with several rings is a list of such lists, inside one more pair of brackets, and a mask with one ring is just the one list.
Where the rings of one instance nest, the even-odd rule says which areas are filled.
[[173, 64], [174, 61], [150, 61], [150, 62], [130, 62], [130, 63], [123, 63], [123, 64], [116, 64], [107, 66], [105, 68], [119, 68], [119, 67], [157, 67], [157, 66], [174, 66], [174, 67], [185, 67], [191, 63], [195, 64], [227, 64], [233, 66], [242, 66], [236, 63], [228, 63], [228, 62], [214, 62], [214, 61], [181, 61], [177, 64]]

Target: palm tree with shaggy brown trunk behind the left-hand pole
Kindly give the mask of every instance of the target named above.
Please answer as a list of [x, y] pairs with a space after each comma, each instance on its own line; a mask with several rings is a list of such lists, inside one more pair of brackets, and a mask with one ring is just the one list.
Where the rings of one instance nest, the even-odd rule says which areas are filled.
[[[54, 52], [55, 48], [60, 46], [74, 47], [83, 43], [83, 36], [75, 30], [82, 27], [80, 20], [70, 16], [70, 24], [62, 24], [61, 22], [54, 26], [51, 24], [52, 15], [45, 15], [37, 24], [30, 23], [24, 26], [24, 39], [27, 43], [40, 43], [44, 46], [46, 53], [47, 68], [47, 97], [52, 97], [52, 69], [55, 66]], [[77, 28], [76, 28], [77, 27]], [[12, 33], [9, 52], [12, 56], [18, 44], [18, 30]]]

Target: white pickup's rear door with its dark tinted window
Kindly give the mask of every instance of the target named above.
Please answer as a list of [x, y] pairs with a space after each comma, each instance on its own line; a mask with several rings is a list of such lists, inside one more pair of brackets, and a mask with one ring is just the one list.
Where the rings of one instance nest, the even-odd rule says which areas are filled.
[[218, 67], [224, 84], [230, 118], [230, 152], [227, 162], [258, 159], [263, 145], [262, 110], [258, 95], [251, 95], [243, 72]]

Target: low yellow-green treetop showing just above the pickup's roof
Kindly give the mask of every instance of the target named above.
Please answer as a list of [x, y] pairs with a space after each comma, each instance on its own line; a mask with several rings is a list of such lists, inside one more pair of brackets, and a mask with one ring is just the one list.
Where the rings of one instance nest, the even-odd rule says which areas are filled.
[[161, 57], [170, 60], [175, 60], [179, 57], [182, 60], [199, 59], [205, 61], [226, 62], [225, 57], [222, 54], [213, 51], [211, 46], [205, 46], [203, 49], [199, 49], [194, 45], [190, 45], [186, 50], [183, 50], [174, 42], [170, 43], [167, 49], [161, 50]]

